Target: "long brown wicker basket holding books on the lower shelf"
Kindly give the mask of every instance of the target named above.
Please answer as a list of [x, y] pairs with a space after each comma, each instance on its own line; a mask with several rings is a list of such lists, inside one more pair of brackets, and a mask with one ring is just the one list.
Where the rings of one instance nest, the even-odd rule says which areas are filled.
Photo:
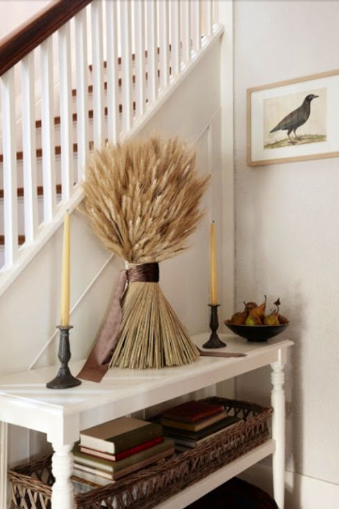
[[[75, 509], [151, 509], [199, 479], [246, 454], [268, 439], [272, 408], [232, 399], [212, 397], [230, 415], [244, 422], [214, 435], [195, 449], [161, 460], [86, 494], [74, 496]], [[11, 509], [51, 509], [51, 456], [16, 467], [8, 473], [12, 485]]]

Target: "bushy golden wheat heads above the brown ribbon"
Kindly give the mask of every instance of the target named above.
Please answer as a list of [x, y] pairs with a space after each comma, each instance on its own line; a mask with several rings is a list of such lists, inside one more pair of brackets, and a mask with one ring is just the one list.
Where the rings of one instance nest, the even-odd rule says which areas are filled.
[[94, 150], [83, 182], [84, 212], [105, 247], [132, 264], [184, 250], [199, 225], [209, 177], [178, 139], [129, 139]]

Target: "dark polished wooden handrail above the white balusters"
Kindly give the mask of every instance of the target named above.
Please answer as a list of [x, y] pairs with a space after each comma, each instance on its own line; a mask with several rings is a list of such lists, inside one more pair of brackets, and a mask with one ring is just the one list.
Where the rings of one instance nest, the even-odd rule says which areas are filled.
[[92, 0], [52, 0], [0, 41], [0, 76], [35, 49]]

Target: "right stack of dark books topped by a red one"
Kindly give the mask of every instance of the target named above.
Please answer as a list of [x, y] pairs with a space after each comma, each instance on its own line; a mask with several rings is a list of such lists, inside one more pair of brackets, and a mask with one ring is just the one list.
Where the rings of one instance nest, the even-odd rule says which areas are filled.
[[227, 415], [222, 405], [200, 400], [169, 408], [160, 420], [164, 435], [174, 440], [178, 451], [192, 449], [240, 421]]

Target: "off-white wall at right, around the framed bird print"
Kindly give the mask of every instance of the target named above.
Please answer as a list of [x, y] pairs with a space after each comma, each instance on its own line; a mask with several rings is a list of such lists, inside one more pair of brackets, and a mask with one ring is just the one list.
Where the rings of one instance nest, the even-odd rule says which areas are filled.
[[[246, 165], [246, 89], [338, 68], [338, 1], [235, 1], [236, 291], [282, 300], [295, 341], [287, 369], [287, 469], [339, 485], [338, 159]], [[238, 381], [260, 399], [266, 372]], [[338, 488], [338, 486], [337, 486]], [[288, 509], [300, 505], [298, 490]], [[329, 509], [338, 499], [324, 500]]]

